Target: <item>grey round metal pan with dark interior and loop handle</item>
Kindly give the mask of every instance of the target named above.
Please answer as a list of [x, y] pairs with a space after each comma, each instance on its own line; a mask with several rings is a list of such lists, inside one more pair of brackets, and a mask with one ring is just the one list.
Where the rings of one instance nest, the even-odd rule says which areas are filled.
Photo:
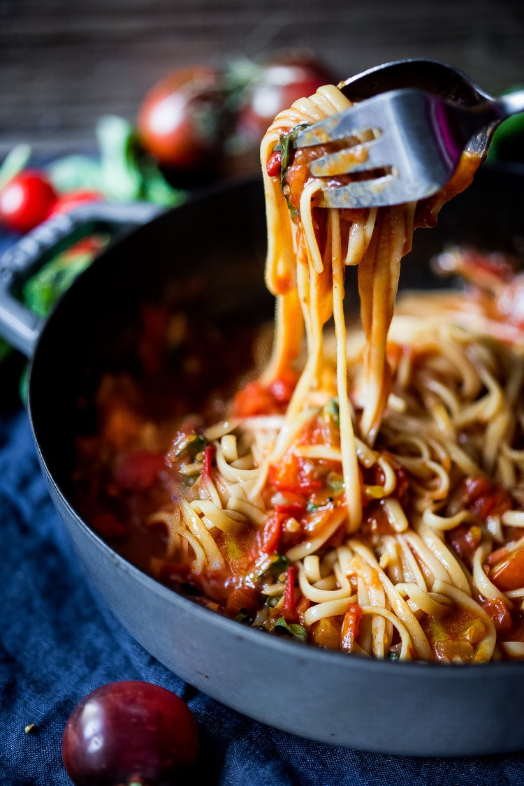
[[[471, 189], [445, 206], [434, 230], [416, 232], [401, 285], [434, 285], [428, 259], [447, 244], [522, 252], [523, 186], [522, 172], [485, 165]], [[273, 314], [263, 281], [266, 225], [258, 179], [155, 212], [141, 204], [86, 206], [38, 228], [0, 263], [0, 332], [31, 358], [27, 408], [42, 472], [97, 591], [168, 669], [277, 729], [391, 754], [522, 749], [524, 663], [379, 662], [264, 635], [162, 586], [82, 520], [71, 503], [75, 401], [79, 391], [93, 390], [104, 366], [132, 362], [128, 327], [140, 303], [198, 275], [198, 302], [210, 329], [224, 319], [241, 329]], [[119, 231], [43, 324], [16, 299], [21, 282], [58, 248], [94, 229]]]

